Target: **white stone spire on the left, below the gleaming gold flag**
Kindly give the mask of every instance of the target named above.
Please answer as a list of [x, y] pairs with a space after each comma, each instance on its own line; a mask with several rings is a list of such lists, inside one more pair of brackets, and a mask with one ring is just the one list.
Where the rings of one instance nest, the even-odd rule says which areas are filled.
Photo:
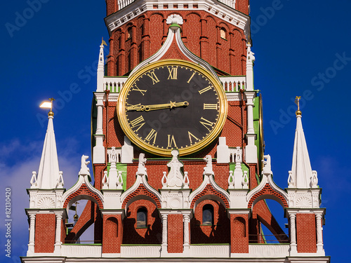
[[58, 168], [58, 151], [56, 149], [55, 133], [53, 132], [53, 113], [49, 112], [48, 129], [46, 130], [43, 153], [39, 164], [37, 187], [39, 189], [62, 188]]

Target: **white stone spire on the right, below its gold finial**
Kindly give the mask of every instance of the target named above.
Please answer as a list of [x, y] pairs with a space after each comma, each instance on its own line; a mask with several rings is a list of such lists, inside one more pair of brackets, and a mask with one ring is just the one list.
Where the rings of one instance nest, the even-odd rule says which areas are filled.
[[293, 144], [293, 164], [289, 171], [289, 188], [311, 188], [312, 168], [307, 151], [300, 111], [296, 112], [296, 132]]

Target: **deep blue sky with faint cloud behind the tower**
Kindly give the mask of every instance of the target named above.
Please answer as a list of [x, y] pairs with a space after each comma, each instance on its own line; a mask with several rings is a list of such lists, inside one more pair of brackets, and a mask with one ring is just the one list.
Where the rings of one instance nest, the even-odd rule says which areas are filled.
[[[32, 170], [39, 168], [46, 133], [42, 100], [60, 99], [54, 128], [66, 188], [77, 180], [80, 156], [91, 156], [95, 69], [101, 37], [108, 39], [105, 1], [41, 0], [31, 7], [32, 2], [37, 3], [6, 1], [0, 11], [0, 193], [4, 198], [5, 188], [11, 187], [13, 198], [13, 258], [1, 250], [1, 262], [18, 262], [27, 249], [25, 189]], [[287, 187], [296, 128], [292, 100], [303, 96], [303, 128], [326, 207], [324, 248], [333, 262], [345, 262], [345, 251], [351, 248], [344, 238], [351, 222], [345, 207], [351, 188], [350, 8], [348, 0], [251, 1], [254, 81], [263, 95], [265, 153], [272, 157], [274, 181]], [[0, 208], [4, 222], [4, 201]], [[277, 211], [276, 216], [283, 217], [282, 210]], [[5, 229], [0, 226], [2, 245]]]

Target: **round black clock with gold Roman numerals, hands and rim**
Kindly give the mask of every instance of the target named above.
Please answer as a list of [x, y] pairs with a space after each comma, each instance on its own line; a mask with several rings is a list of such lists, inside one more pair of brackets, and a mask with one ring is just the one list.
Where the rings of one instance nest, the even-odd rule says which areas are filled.
[[138, 147], [152, 154], [192, 154], [215, 139], [227, 116], [216, 78], [181, 60], [154, 62], [131, 76], [119, 95], [119, 123]]

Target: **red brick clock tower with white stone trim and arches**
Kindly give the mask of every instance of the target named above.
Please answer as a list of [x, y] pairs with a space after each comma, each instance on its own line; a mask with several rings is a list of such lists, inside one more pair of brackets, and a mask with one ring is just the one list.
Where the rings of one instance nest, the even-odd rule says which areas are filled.
[[[289, 187], [272, 180], [253, 86], [249, 0], [106, 6], [110, 53], [106, 59], [102, 41], [93, 170], [82, 156], [78, 182], [51, 191], [55, 209], [41, 210], [38, 196], [48, 190], [32, 184], [22, 262], [329, 262], [317, 172], [300, 169], [310, 167], [300, 112]], [[268, 198], [284, 208], [289, 233]], [[67, 211], [81, 199], [86, 208], [67, 224]], [[46, 218], [53, 227], [44, 242], [37, 231]], [[79, 245], [91, 224], [94, 243]]]

